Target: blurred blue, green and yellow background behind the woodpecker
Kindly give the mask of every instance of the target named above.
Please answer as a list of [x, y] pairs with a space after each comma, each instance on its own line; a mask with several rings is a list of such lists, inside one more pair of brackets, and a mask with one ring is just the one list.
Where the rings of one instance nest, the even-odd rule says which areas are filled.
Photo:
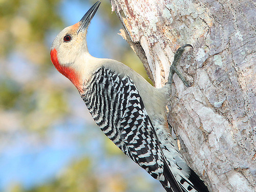
[[[0, 0], [0, 191], [164, 191], [100, 131], [50, 61], [51, 42], [95, 1]], [[88, 30], [95, 57], [146, 77], [109, 1]]]

